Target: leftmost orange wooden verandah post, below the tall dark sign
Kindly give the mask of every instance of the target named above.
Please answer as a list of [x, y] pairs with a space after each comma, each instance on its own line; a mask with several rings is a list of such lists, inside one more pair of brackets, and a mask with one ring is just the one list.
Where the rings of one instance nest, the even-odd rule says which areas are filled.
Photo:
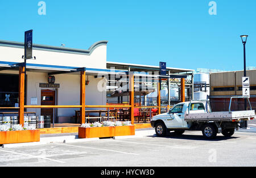
[[25, 67], [19, 67], [19, 124], [24, 126]]

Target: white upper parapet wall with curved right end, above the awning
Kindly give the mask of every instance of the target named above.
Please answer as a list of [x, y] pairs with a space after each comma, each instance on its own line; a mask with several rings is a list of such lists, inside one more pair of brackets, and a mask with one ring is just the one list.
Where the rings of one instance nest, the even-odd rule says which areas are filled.
[[[61, 50], [53, 52], [49, 50], [33, 49], [33, 56], [36, 56], [36, 60], [28, 60], [27, 63], [106, 69], [106, 49], [106, 45], [98, 45], [92, 50], [90, 55], [66, 53]], [[23, 55], [23, 48], [0, 45], [0, 61], [24, 62], [22, 59]]]

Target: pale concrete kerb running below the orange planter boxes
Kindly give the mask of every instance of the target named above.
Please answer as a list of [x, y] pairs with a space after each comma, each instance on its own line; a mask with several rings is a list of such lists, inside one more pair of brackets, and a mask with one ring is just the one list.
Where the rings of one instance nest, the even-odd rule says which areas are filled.
[[[118, 137], [113, 137], [113, 139], [138, 138], [138, 137], [146, 137], [150, 135], [155, 135], [155, 130], [138, 130], [138, 131], [135, 131], [135, 135], [118, 136]], [[22, 147], [22, 146], [46, 145], [49, 143], [75, 143], [75, 142], [89, 142], [89, 141], [99, 141], [99, 140], [100, 138], [85, 138], [85, 139], [80, 138], [79, 139], [78, 135], [66, 135], [66, 136], [60, 136], [60, 137], [42, 137], [40, 138], [40, 142], [5, 144], [5, 145], [2, 145], [2, 147], [12, 148], [12, 147]]]

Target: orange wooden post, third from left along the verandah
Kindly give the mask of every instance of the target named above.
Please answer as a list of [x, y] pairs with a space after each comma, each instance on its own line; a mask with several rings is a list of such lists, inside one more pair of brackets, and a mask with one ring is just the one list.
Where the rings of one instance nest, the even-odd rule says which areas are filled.
[[134, 74], [129, 73], [129, 101], [131, 124], [134, 124]]

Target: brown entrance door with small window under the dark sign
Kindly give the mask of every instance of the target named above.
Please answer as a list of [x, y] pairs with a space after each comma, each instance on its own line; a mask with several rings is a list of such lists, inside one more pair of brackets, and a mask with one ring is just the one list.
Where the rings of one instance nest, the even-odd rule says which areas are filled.
[[[42, 90], [41, 91], [41, 105], [55, 105], [55, 91]], [[53, 122], [53, 109], [42, 108], [41, 116], [51, 116], [51, 122]]]

